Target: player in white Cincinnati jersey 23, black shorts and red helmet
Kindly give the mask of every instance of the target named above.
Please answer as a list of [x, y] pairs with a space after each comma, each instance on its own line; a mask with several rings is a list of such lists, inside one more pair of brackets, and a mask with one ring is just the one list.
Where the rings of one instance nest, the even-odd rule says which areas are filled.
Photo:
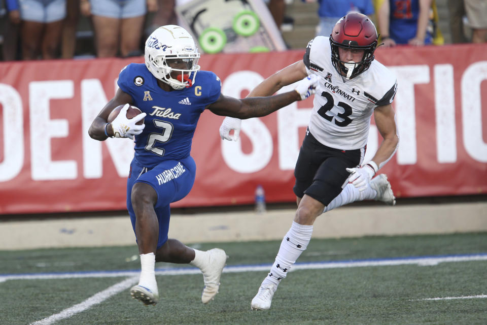
[[[365, 199], [395, 204], [386, 175], [372, 179], [399, 142], [391, 105], [396, 78], [374, 60], [376, 47], [377, 31], [367, 16], [347, 14], [329, 38], [318, 36], [308, 43], [303, 60], [268, 77], [249, 94], [267, 96], [307, 75], [320, 77], [294, 170], [298, 209], [268, 276], [252, 300], [254, 310], [270, 308], [277, 285], [306, 249], [320, 214]], [[363, 165], [372, 114], [384, 140], [372, 160]], [[235, 140], [229, 132], [238, 132], [239, 123], [225, 118], [220, 127], [222, 138]]]

